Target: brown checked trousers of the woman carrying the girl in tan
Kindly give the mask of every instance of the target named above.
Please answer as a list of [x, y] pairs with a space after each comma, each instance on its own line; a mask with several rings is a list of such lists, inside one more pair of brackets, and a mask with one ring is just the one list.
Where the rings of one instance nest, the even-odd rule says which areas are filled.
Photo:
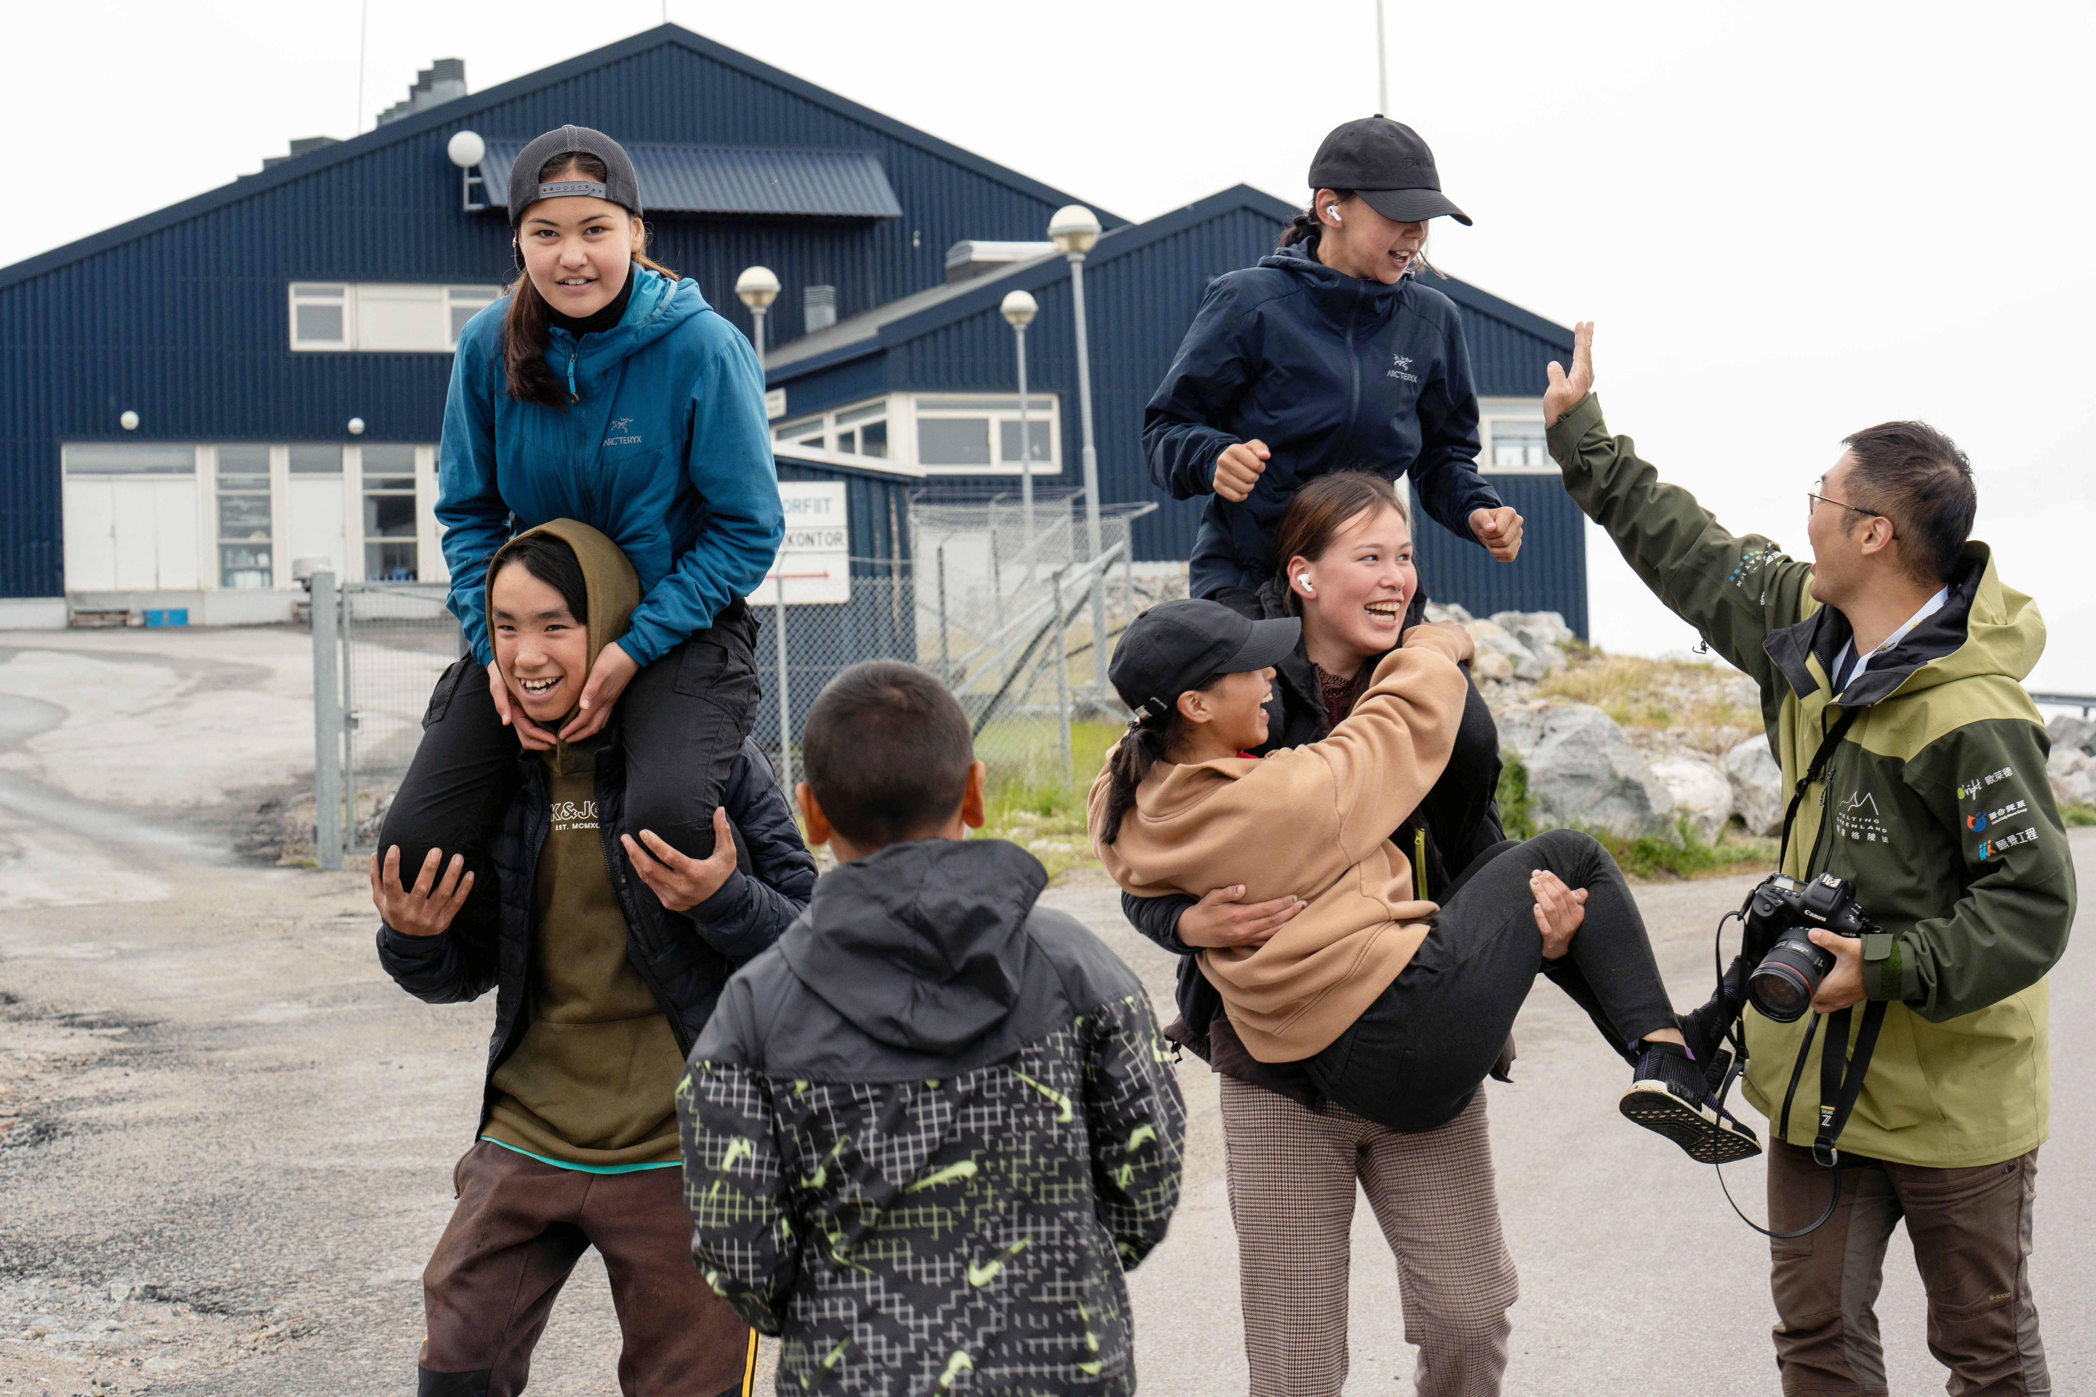
[[1398, 1261], [1419, 1397], [1497, 1397], [1520, 1284], [1499, 1229], [1484, 1091], [1448, 1125], [1404, 1135], [1337, 1104], [1310, 1110], [1220, 1081], [1251, 1397], [1346, 1387], [1356, 1181]]

